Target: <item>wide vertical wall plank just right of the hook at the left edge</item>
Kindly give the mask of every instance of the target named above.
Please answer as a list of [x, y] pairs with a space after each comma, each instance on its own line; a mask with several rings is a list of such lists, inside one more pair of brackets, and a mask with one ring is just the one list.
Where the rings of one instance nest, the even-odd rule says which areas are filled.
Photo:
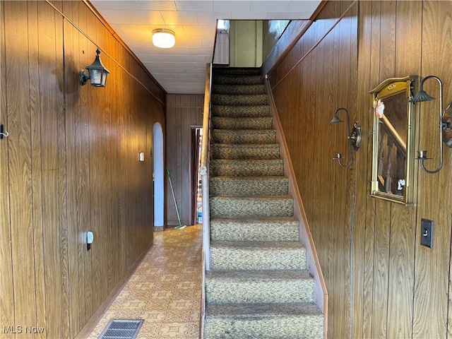
[[[27, 3], [21, 4], [21, 11], [27, 12]], [[33, 228], [32, 228], [32, 184], [31, 184], [31, 145], [30, 145], [30, 101], [23, 100], [29, 97], [28, 71], [22, 71], [21, 66], [28, 63], [27, 36], [21, 34], [22, 30], [28, 30], [27, 18], [20, 18], [19, 13], [14, 13], [10, 4], [4, 4], [5, 28], [11, 23], [16, 23], [18, 30], [5, 32], [5, 48], [8, 71], [6, 73], [6, 105], [8, 111], [8, 131], [10, 135], [4, 138], [2, 143], [8, 143], [9, 178], [11, 184], [10, 194], [7, 197], [10, 203], [8, 214], [10, 215], [11, 230], [11, 263], [13, 301], [18, 304], [14, 309], [13, 323], [5, 325], [22, 326], [23, 324], [36, 323], [36, 299], [28, 300], [28, 295], [23, 291], [35, 290], [35, 269], [33, 252]], [[25, 84], [25, 85], [23, 85]], [[11, 107], [11, 108], [10, 108]], [[20, 114], [27, 112], [28, 114]], [[11, 130], [16, 133], [11, 133]], [[24, 174], [24, 175], [23, 175]], [[10, 268], [10, 269], [11, 269]], [[18, 323], [17, 319], [23, 319]], [[18, 328], [17, 328], [18, 329]], [[18, 329], [18, 331], [20, 331]]]

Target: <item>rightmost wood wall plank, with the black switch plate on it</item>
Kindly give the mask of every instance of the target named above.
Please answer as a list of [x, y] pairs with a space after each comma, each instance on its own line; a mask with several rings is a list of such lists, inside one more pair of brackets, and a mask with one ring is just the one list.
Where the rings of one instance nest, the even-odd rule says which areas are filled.
[[[421, 75], [436, 75], [443, 81], [444, 102], [452, 100], [452, 66], [444, 60], [450, 57], [452, 48], [452, 6], [450, 1], [424, 1], [422, 6]], [[439, 97], [434, 81], [424, 88]], [[426, 83], [427, 85], [427, 83]], [[438, 163], [436, 145], [436, 109], [438, 100], [420, 105], [420, 148], [432, 150], [433, 160], [426, 167], [432, 169]], [[436, 107], [436, 109], [435, 109]], [[439, 338], [447, 335], [448, 272], [451, 260], [451, 167], [452, 150], [444, 149], [443, 169], [437, 174], [420, 170], [418, 182], [417, 230], [422, 218], [434, 220], [434, 247], [420, 246], [415, 251], [415, 308], [413, 336], [415, 338]], [[417, 237], [419, 239], [419, 237]], [[449, 297], [446, 298], [446, 295]], [[450, 307], [450, 306], [449, 306]], [[429, 311], [434, 309], [435, 311]], [[424, 326], [422, 323], [429, 323]]]

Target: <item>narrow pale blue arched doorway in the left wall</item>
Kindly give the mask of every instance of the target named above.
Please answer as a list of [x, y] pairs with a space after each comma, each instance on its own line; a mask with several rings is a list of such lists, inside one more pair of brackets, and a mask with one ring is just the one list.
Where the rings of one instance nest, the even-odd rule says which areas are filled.
[[162, 125], [153, 126], [153, 169], [154, 169], [154, 229], [163, 230], [165, 201], [165, 171], [163, 164]]

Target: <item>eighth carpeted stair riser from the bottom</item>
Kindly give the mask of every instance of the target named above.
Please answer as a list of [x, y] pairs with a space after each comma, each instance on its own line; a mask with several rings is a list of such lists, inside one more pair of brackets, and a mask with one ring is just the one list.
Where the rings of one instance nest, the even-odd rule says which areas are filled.
[[280, 145], [228, 145], [213, 144], [210, 147], [213, 159], [279, 159]]

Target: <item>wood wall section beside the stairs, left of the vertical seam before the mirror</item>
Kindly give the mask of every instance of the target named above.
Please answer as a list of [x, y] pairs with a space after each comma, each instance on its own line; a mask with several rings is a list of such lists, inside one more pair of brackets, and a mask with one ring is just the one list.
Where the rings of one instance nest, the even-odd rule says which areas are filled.
[[[286, 72], [277, 67], [269, 75], [311, 232], [322, 245], [317, 252], [328, 289], [330, 338], [350, 333], [350, 218], [356, 174], [354, 166], [347, 169], [333, 161], [335, 153], [348, 160], [347, 134], [345, 124], [330, 121], [340, 107], [350, 110], [350, 121], [355, 119], [356, 31], [357, 3], [329, 2], [283, 60]], [[345, 119], [343, 111], [340, 117]]]

